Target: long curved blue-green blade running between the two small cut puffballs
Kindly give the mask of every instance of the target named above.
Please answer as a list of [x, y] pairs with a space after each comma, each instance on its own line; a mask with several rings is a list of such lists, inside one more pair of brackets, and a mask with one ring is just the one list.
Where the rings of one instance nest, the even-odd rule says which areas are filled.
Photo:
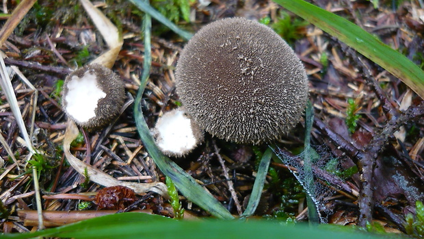
[[150, 28], [151, 21], [150, 15], [145, 14], [144, 17], [144, 72], [140, 88], [137, 93], [134, 105], [134, 118], [135, 124], [137, 125], [137, 131], [140, 134], [140, 138], [144, 143], [150, 157], [153, 158], [162, 173], [172, 179], [176, 188], [184, 195], [187, 199], [196, 203], [199, 207], [216, 216], [217, 218], [233, 219], [234, 217], [226, 210], [226, 208], [215, 199], [211, 194], [206, 192], [202, 186], [200, 186], [193, 177], [186, 173], [182, 168], [175, 164], [168, 157], [163, 155], [159, 149], [157, 149], [155, 140], [150, 134], [150, 130], [144, 121], [142, 112], [140, 111], [140, 102], [144, 88], [147, 84], [147, 79], [150, 74], [151, 55], [150, 55]]

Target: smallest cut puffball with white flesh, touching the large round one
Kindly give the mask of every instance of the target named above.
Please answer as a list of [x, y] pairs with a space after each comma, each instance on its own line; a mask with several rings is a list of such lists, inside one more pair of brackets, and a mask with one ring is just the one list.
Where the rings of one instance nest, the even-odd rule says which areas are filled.
[[203, 132], [183, 108], [165, 112], [153, 129], [156, 144], [165, 155], [181, 157], [203, 141]]

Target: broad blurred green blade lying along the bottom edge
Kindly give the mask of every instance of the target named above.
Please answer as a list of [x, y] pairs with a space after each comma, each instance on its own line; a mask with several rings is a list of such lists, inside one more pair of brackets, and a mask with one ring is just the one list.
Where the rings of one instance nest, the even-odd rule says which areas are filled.
[[[332, 228], [332, 229], [331, 229]], [[343, 230], [343, 231], [342, 231]], [[176, 221], [158, 215], [128, 212], [92, 218], [63, 227], [26, 234], [0, 234], [4, 239], [40, 237], [60, 238], [343, 238], [382, 239], [400, 238], [369, 234], [349, 227], [308, 227], [307, 225], [281, 225], [273, 221]]]

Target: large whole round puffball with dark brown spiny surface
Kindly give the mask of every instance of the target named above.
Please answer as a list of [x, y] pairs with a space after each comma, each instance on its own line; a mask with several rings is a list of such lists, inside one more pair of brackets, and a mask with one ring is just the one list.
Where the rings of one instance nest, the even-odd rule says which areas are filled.
[[176, 66], [176, 89], [200, 127], [225, 140], [260, 143], [287, 134], [304, 112], [308, 79], [294, 51], [246, 18], [206, 25]]

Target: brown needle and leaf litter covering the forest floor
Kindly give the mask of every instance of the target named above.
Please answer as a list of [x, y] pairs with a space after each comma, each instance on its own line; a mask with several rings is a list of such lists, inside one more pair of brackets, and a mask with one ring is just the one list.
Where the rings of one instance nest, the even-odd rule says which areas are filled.
[[[79, 3], [75, 5], [81, 11], [71, 16], [66, 14], [66, 10], [71, 8], [72, 1], [60, 2], [62, 5], [55, 13], [57, 21], [36, 25], [42, 20], [37, 19], [40, 11], [49, 14], [56, 7], [55, 3], [38, 1], [38, 6], [32, 8], [21, 22], [21, 30], [12, 33], [2, 51], [8, 56], [5, 58], [5, 66], [17, 66], [39, 92], [36, 97], [38, 102], [34, 103], [34, 88], [23, 84], [18, 77], [10, 81], [16, 95], [16, 105], [27, 127], [31, 126], [32, 112], [35, 112], [34, 134], [30, 140], [38, 151], [44, 152], [45, 162], [40, 164], [44, 165], [40, 168], [40, 192], [45, 197], [42, 199], [42, 209], [65, 214], [77, 211], [79, 201], [61, 195], [75, 194], [94, 199], [103, 186], [90, 181], [84, 184], [85, 175], [75, 172], [64, 160], [64, 147], [61, 144], [66, 137], [68, 123], [60, 107], [60, 97], [53, 91], [55, 84], [70, 72], [69, 66], [77, 66], [76, 61], [86, 64], [109, 47]], [[293, 14], [266, 0], [213, 1], [209, 5], [202, 5], [200, 1], [189, 2], [191, 23], [187, 23], [183, 17], [176, 21], [178, 27], [187, 32], [196, 32], [204, 24], [230, 16], [245, 16], [256, 20], [268, 17], [272, 23], [276, 23], [284, 12], [291, 17], [291, 21], [299, 21]], [[390, 47], [399, 49], [422, 68], [424, 13], [419, 2], [403, 1], [397, 6], [381, 3], [379, 8], [362, 1], [329, 3], [317, 0], [313, 3], [355, 22]], [[9, 3], [3, 6], [3, 12], [5, 8], [10, 11], [15, 7]], [[135, 8], [127, 1], [106, 1], [96, 7], [107, 12], [106, 16], [118, 26], [118, 34], [123, 39], [122, 49], [118, 51], [112, 69], [124, 81], [127, 97], [131, 100], [137, 93], [144, 71], [144, 43], [140, 29], [143, 15], [137, 10], [131, 10]], [[287, 26], [280, 23], [280, 27]], [[372, 157], [375, 158], [375, 167], [371, 171], [375, 188], [371, 192], [373, 222], [383, 225], [386, 231], [406, 232], [406, 214], [414, 214], [416, 201], [424, 200], [423, 99], [373, 62], [358, 60], [352, 50], [349, 51], [343, 43], [317, 27], [302, 25], [302, 29], [294, 30], [299, 31], [299, 38], [293, 40], [292, 47], [306, 66], [310, 80], [310, 101], [315, 112], [311, 146], [319, 155], [313, 160], [313, 178], [316, 188], [319, 188], [319, 193], [313, 197], [318, 210], [328, 223], [358, 225], [361, 175], [358, 173], [360, 163], [356, 153], [367, 149], [374, 153]], [[163, 112], [181, 104], [174, 87], [174, 66], [185, 42], [168, 29], [163, 29], [159, 23], [153, 24], [152, 36], [153, 67], [141, 102], [144, 118], [150, 128]], [[83, 51], [88, 51], [89, 55], [78, 58]], [[3, 232], [29, 231], [37, 223], [25, 224], [25, 216], [18, 217], [16, 209], [37, 209], [34, 203], [36, 190], [30, 184], [33, 176], [23, 173], [31, 169], [27, 164], [30, 152], [22, 147], [25, 142], [22, 137], [25, 135], [19, 131], [11, 105], [4, 94], [0, 97], [0, 131], [4, 138], [0, 146], [1, 159], [4, 161], [0, 172], [0, 199], [5, 210], [10, 212], [10, 216], [1, 221], [1, 228]], [[357, 106], [355, 114], [361, 116], [356, 121], [353, 133], [350, 131], [351, 125], [346, 122], [347, 112], [352, 108], [349, 99], [354, 99], [354, 105]], [[164, 175], [155, 166], [137, 134], [131, 109], [126, 108], [116, 123], [109, 127], [81, 134], [83, 140], [72, 142], [70, 151], [86, 164], [111, 177], [146, 184], [163, 183]], [[399, 114], [400, 110], [405, 113]], [[382, 130], [384, 127], [386, 131]], [[395, 131], [398, 133], [393, 137]], [[293, 134], [276, 142], [276, 153], [288, 160], [283, 160], [284, 164], [278, 164], [278, 161], [271, 164], [270, 172], [276, 171], [276, 181], [271, 180], [274, 176], [268, 175], [261, 199], [265, 206], [258, 207], [256, 215], [281, 221], [287, 221], [287, 218], [307, 220], [304, 196], [296, 198], [290, 194], [290, 190], [284, 192], [287, 194], [274, 190], [274, 184], [285, 185], [285, 180], [293, 177], [290, 170], [298, 177], [304, 177], [304, 162], [294, 155], [302, 151], [303, 135], [304, 122], [297, 125]], [[265, 149], [266, 145], [254, 148], [207, 136], [205, 142], [186, 158], [173, 160], [230, 212], [240, 214], [234, 197], [239, 201], [246, 201], [250, 197], [259, 162], [256, 158], [260, 158], [259, 153]], [[228, 184], [229, 181], [232, 186]], [[59, 198], [49, 198], [55, 194]], [[290, 203], [284, 204], [283, 196], [291, 198]], [[172, 207], [160, 194], [138, 192], [137, 197], [143, 201], [136, 200], [137, 204], [131, 205], [132, 210], [151, 210], [155, 214], [173, 215]], [[183, 197], [181, 201], [187, 217], [209, 216], [208, 212]], [[246, 208], [244, 203], [241, 206], [243, 210]], [[281, 208], [284, 208], [284, 213]], [[96, 209], [96, 205], [92, 204], [92, 209]]]

